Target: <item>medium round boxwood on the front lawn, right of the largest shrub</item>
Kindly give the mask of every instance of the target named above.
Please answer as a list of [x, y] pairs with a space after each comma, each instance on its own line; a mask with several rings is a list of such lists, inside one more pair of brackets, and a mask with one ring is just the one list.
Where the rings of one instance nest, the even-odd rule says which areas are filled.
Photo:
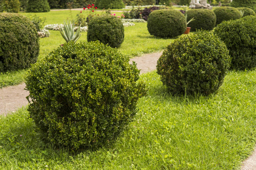
[[212, 32], [181, 36], [157, 63], [157, 73], [172, 94], [212, 94], [223, 83], [230, 66], [224, 42]]

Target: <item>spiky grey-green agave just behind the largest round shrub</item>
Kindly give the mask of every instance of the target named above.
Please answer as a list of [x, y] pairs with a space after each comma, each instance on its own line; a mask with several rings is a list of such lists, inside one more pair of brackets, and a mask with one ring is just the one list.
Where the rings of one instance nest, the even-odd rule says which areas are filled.
[[80, 34], [80, 27], [81, 25], [79, 25], [79, 27], [76, 30], [76, 34], [75, 34], [75, 22], [64, 22], [64, 27], [60, 27], [60, 33], [63, 36], [63, 38], [65, 39], [65, 41], [69, 42], [69, 41], [74, 41], [76, 42], [81, 34]]

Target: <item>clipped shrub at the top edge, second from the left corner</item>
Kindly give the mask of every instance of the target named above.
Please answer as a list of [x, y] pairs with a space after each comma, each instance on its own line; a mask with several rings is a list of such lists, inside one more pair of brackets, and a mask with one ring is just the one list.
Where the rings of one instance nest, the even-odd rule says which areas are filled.
[[28, 0], [26, 12], [49, 12], [50, 7], [47, 0]]

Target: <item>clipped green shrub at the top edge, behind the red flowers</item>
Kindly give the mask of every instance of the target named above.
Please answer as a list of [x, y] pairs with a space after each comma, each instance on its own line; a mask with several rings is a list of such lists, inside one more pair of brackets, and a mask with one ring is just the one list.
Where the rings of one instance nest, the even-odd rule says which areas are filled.
[[96, 0], [95, 5], [100, 9], [121, 9], [125, 7], [122, 0]]

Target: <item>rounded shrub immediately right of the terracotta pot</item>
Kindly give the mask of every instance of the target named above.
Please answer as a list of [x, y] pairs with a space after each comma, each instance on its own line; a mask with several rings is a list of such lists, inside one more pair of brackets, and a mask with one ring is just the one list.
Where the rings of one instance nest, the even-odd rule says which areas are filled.
[[194, 9], [187, 11], [187, 21], [194, 18], [187, 27], [191, 27], [191, 31], [196, 29], [212, 30], [216, 25], [216, 15], [212, 10]]

